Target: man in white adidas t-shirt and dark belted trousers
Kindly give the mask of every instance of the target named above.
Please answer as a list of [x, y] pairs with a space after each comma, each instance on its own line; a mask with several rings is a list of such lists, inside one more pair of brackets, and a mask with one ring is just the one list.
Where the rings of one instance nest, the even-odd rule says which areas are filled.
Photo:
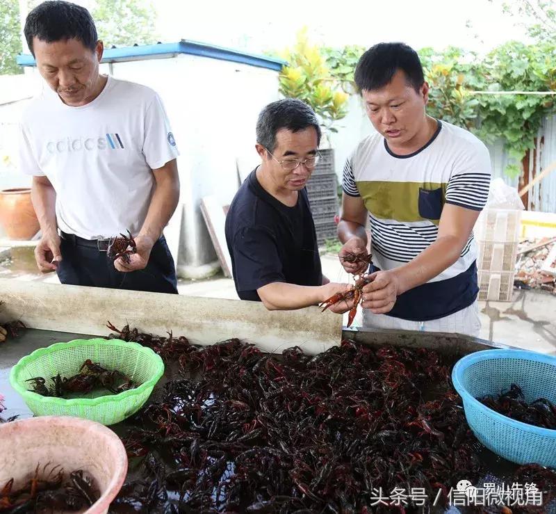
[[[103, 44], [81, 6], [45, 1], [24, 33], [49, 86], [24, 112], [19, 145], [42, 231], [38, 267], [65, 284], [177, 293], [163, 229], [179, 199], [179, 153], [161, 99], [99, 74]], [[136, 253], [112, 262], [108, 243], [128, 230]]]

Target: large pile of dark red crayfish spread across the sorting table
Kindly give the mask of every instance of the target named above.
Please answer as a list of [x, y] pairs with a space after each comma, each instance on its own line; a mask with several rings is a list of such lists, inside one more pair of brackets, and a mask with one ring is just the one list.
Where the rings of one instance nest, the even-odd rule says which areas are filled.
[[[452, 362], [433, 351], [344, 341], [314, 357], [268, 355], [238, 339], [199, 348], [171, 332], [111, 328], [178, 368], [128, 420], [124, 444], [142, 478], [124, 485], [113, 513], [417, 513], [411, 499], [375, 497], [422, 488], [445, 504], [462, 477], [484, 474]], [[542, 471], [553, 494], [556, 473]]]

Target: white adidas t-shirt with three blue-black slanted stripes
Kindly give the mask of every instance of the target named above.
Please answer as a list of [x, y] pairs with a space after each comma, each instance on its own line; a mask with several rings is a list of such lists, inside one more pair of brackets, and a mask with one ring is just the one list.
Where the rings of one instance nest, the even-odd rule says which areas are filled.
[[58, 227], [85, 239], [137, 235], [154, 191], [152, 170], [179, 155], [154, 90], [112, 77], [80, 107], [45, 86], [20, 128], [20, 169], [49, 179]]

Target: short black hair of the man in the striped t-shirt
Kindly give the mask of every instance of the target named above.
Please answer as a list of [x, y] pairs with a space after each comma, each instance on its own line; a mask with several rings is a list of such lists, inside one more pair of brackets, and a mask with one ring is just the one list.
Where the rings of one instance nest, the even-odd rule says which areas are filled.
[[425, 76], [414, 49], [404, 43], [378, 43], [370, 47], [355, 68], [354, 78], [359, 93], [383, 88], [398, 70], [404, 72], [407, 83], [418, 92]]

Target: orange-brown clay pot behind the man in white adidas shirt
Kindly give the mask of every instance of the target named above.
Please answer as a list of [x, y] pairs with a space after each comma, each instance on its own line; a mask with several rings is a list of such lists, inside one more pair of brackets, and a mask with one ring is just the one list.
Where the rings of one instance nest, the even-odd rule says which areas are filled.
[[30, 188], [0, 191], [0, 224], [8, 239], [28, 241], [39, 231]]

